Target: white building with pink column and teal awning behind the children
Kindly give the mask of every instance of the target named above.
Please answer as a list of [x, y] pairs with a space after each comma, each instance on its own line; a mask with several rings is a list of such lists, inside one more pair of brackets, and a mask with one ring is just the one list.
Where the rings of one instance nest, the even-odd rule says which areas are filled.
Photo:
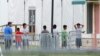
[[[0, 0], [0, 26], [12, 21], [13, 24], [34, 25], [28, 29], [35, 34], [41, 33], [43, 25], [47, 25], [51, 31], [51, 1]], [[73, 31], [73, 25], [81, 23], [85, 31], [83, 38], [93, 38], [94, 46], [97, 46], [97, 38], [100, 38], [99, 13], [99, 0], [54, 0], [54, 24], [57, 24], [57, 30], [61, 32], [62, 25], [65, 24], [68, 25], [68, 31]]]

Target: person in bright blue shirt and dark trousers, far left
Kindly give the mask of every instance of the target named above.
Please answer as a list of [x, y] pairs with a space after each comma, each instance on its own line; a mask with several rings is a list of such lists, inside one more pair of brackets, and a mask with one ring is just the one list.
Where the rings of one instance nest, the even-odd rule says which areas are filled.
[[5, 40], [5, 49], [9, 49], [12, 46], [12, 22], [8, 22], [7, 26], [4, 28], [4, 40]]

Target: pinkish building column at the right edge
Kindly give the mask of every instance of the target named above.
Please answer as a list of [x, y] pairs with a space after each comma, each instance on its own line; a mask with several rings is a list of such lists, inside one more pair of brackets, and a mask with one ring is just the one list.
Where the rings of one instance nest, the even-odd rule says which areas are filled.
[[100, 5], [93, 4], [93, 33], [94, 47], [97, 47], [97, 37], [100, 33]]

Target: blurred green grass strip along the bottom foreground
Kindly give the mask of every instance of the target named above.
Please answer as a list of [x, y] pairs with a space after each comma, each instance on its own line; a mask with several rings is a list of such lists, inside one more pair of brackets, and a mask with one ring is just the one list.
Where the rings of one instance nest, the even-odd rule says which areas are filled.
[[99, 51], [86, 52], [42, 52], [42, 51], [4, 51], [3, 56], [100, 56]]

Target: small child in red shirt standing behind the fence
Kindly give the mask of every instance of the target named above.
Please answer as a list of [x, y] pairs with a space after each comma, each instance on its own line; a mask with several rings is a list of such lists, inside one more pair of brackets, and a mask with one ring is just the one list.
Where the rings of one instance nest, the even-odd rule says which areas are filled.
[[21, 37], [21, 35], [22, 35], [23, 33], [22, 32], [20, 32], [20, 29], [19, 28], [17, 28], [16, 29], [16, 48], [18, 48], [18, 49], [20, 49], [21, 48], [21, 42], [22, 42], [22, 37]]

